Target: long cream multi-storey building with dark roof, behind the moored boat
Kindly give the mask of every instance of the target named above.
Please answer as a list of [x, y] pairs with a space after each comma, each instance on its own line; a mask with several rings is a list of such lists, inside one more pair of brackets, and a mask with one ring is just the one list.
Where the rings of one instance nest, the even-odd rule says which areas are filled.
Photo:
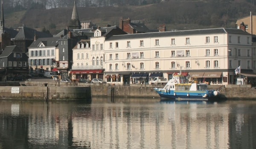
[[155, 76], [170, 79], [181, 71], [189, 81], [226, 85], [236, 83], [234, 70], [238, 66], [248, 76], [256, 67], [252, 35], [241, 29], [113, 35], [91, 38], [90, 42], [104, 46], [103, 51], [91, 47], [91, 54], [104, 55], [108, 83], [150, 83]]

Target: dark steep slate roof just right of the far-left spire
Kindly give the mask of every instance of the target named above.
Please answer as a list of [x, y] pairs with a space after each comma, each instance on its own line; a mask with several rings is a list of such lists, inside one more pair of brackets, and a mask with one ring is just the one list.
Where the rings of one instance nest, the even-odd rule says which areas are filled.
[[38, 38], [52, 37], [52, 34], [38, 32], [35, 29], [31, 29], [31, 28], [23, 26], [20, 29], [20, 32], [18, 32], [18, 34], [15, 36], [14, 40], [34, 40], [35, 35]]

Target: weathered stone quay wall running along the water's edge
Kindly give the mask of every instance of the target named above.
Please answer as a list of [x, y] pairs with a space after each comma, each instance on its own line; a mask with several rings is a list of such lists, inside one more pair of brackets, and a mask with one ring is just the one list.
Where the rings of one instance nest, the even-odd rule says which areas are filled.
[[[12, 93], [12, 87], [20, 92]], [[0, 100], [82, 100], [91, 97], [141, 97], [160, 98], [154, 88], [163, 85], [130, 84], [129, 86], [107, 83], [61, 83], [26, 81], [20, 86], [0, 86]], [[256, 89], [250, 85], [209, 86], [219, 90], [228, 99], [256, 99]]]

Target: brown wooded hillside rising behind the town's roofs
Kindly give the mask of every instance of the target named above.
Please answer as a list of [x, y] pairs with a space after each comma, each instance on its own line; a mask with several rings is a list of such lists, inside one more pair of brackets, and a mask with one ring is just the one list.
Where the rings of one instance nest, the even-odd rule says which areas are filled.
[[[27, 27], [41, 31], [44, 27], [52, 34], [66, 29], [72, 7], [57, 9], [31, 9], [5, 14], [5, 26]], [[256, 7], [239, 0], [216, 1], [169, 1], [145, 6], [77, 7], [80, 21], [90, 20], [97, 26], [117, 25], [120, 18], [131, 18], [145, 23], [149, 29], [166, 24], [166, 30], [234, 28], [236, 20], [256, 14]]]

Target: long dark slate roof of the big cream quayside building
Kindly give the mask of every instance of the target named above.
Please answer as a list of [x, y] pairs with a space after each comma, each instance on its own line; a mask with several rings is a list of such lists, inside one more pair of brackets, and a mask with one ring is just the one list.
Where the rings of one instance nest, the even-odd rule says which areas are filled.
[[194, 34], [219, 34], [219, 33], [230, 33], [230, 34], [248, 34], [241, 29], [195, 29], [195, 30], [184, 30], [184, 31], [169, 31], [169, 32], [150, 32], [140, 34], [125, 34], [125, 35], [113, 35], [108, 40], [119, 40], [129, 38], [145, 38], [145, 37], [168, 37], [168, 36], [189, 36]]

